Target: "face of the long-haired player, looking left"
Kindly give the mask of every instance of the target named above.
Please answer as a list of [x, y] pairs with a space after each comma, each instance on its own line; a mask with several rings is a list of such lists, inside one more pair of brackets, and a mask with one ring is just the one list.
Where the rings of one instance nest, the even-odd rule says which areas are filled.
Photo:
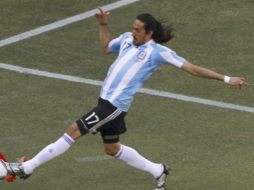
[[152, 32], [148, 32], [146, 34], [144, 23], [140, 20], [135, 20], [132, 25], [132, 36], [133, 36], [133, 43], [136, 46], [140, 46], [151, 39]]

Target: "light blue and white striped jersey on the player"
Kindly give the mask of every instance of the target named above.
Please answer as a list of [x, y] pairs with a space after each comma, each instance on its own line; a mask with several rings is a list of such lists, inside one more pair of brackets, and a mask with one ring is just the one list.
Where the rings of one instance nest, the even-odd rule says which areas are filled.
[[186, 61], [153, 40], [135, 46], [130, 32], [113, 39], [109, 49], [119, 55], [109, 68], [100, 97], [124, 112], [128, 111], [135, 93], [161, 64], [180, 68]]

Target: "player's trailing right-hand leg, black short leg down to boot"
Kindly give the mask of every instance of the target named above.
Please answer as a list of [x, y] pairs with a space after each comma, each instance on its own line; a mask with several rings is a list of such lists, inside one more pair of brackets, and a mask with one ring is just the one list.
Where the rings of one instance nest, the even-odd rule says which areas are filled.
[[156, 179], [155, 190], [165, 190], [166, 177], [169, 174], [168, 166], [154, 163], [143, 157], [135, 149], [120, 144], [119, 135], [126, 131], [124, 114], [103, 127], [100, 132], [106, 154], [114, 156], [131, 167], [152, 174]]

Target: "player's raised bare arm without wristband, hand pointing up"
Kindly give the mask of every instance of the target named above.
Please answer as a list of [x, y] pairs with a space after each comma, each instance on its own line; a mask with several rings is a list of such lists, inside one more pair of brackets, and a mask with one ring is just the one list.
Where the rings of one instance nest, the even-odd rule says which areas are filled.
[[95, 14], [100, 30], [100, 45], [105, 54], [110, 53], [108, 44], [111, 40], [111, 35], [108, 29], [108, 15], [109, 12], [104, 12], [100, 7], [99, 13]]

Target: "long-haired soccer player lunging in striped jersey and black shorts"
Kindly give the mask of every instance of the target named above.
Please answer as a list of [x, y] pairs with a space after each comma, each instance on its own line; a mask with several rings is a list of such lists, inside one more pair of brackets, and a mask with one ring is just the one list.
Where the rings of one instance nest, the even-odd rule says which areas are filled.
[[133, 22], [132, 32], [123, 33], [113, 40], [108, 30], [109, 12], [99, 8], [95, 16], [104, 53], [118, 53], [118, 58], [104, 80], [98, 105], [32, 159], [22, 163], [6, 162], [8, 173], [26, 179], [38, 166], [66, 152], [79, 137], [99, 132], [106, 154], [150, 173], [156, 181], [155, 190], [164, 190], [169, 167], [144, 158], [119, 141], [119, 136], [126, 131], [124, 117], [133, 96], [161, 64], [172, 65], [194, 76], [224, 81], [233, 86], [241, 87], [245, 85], [245, 80], [243, 77], [229, 77], [194, 65], [161, 45], [172, 39], [173, 29], [163, 26], [150, 14], [138, 15]]

